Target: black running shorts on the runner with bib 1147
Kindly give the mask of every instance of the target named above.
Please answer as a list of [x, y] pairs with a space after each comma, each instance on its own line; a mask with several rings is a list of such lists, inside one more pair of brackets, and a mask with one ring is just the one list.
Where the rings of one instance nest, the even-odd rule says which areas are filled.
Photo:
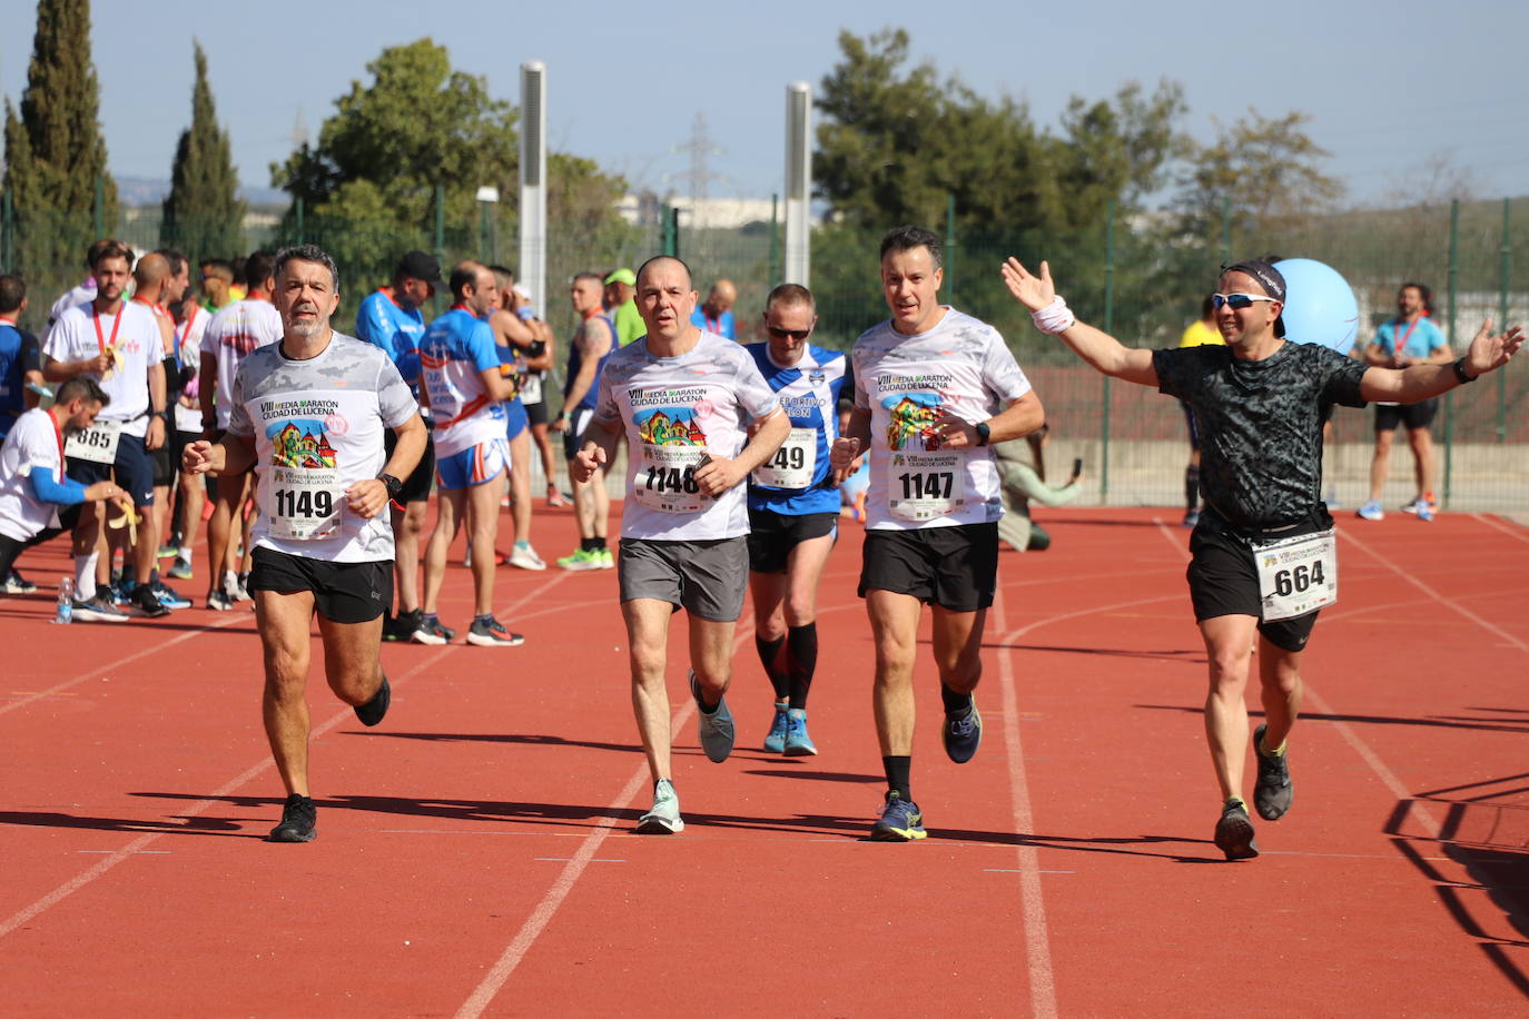
[[998, 524], [867, 530], [859, 596], [911, 594], [953, 613], [992, 605], [998, 584]]

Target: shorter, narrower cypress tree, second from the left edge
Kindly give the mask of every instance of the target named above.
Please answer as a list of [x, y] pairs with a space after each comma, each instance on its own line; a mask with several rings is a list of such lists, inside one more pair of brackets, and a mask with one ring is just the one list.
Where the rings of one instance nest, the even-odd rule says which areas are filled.
[[206, 84], [206, 55], [196, 43], [196, 86], [191, 89], [191, 127], [180, 133], [170, 168], [170, 196], [159, 240], [200, 258], [232, 258], [245, 246], [245, 203], [228, 131], [219, 127], [213, 89]]

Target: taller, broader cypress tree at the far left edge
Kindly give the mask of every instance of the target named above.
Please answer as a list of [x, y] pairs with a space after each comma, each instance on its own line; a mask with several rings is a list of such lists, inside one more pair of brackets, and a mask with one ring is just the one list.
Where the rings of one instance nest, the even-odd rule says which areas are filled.
[[6, 102], [5, 189], [17, 214], [17, 269], [34, 284], [78, 277], [101, 222], [116, 228], [116, 182], [106, 171], [99, 87], [90, 60], [89, 0], [38, 0], [21, 115]]

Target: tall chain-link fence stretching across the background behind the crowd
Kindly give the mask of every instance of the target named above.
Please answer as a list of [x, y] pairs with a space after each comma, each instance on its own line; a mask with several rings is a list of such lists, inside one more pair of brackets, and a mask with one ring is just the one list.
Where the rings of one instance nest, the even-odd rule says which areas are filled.
[[[437, 205], [439, 208], [439, 205]], [[17, 266], [29, 234], [70, 234], [86, 229], [89, 212], [75, 215], [12, 209], [0, 202], [0, 264]], [[338, 324], [349, 324], [359, 296], [385, 283], [399, 255], [434, 252], [443, 266], [480, 258], [514, 266], [517, 251], [511, 209], [494, 215], [450, 220], [436, 214], [414, 229], [303, 215], [301, 208], [254, 211], [243, 225], [243, 251], [295, 241], [317, 243], [341, 266], [344, 298]], [[99, 226], [99, 223], [96, 223]], [[196, 225], [180, 225], [191, 229]], [[1197, 318], [1200, 299], [1214, 287], [1228, 261], [1275, 255], [1313, 258], [1336, 269], [1359, 304], [1359, 341], [1394, 313], [1404, 281], [1433, 287], [1434, 321], [1451, 345], [1463, 351], [1482, 319], [1523, 321], [1529, 312], [1529, 266], [1514, 263], [1524, 251], [1529, 223], [1511, 205], [1469, 203], [1401, 211], [1359, 211], [1310, 217], [1301, 223], [1258, 231], [1243, 226], [1234, 209], [1205, 235], [1173, 235], [1151, 215], [1110, 217], [1090, 231], [1038, 235], [994, 228], [957, 232], [946, 225], [943, 299], [992, 322], [1008, 339], [1035, 383], [1052, 423], [1049, 455], [1057, 463], [1083, 457], [1092, 498], [1115, 504], [1176, 504], [1182, 498], [1188, 458], [1179, 405], [1142, 387], [1102, 379], [1058, 341], [1034, 330], [1029, 315], [1008, 295], [998, 266], [1015, 255], [1027, 266], [1047, 260], [1058, 289], [1087, 322], [1128, 345], [1173, 347]], [[67, 228], [67, 229], [66, 229]], [[161, 244], [159, 208], [128, 208], [112, 235], [139, 251]], [[815, 342], [849, 348], [855, 338], [887, 315], [878, 275], [879, 231], [827, 223], [812, 238], [812, 289], [820, 325]], [[780, 280], [781, 234], [774, 222], [729, 229], [693, 229], [664, 209], [650, 225], [552, 223], [547, 247], [546, 309], [538, 309], [560, 338], [572, 333], [566, 299], [576, 273], [607, 273], [635, 267], [654, 254], [679, 254], [705, 293], [717, 278], [739, 293], [734, 309], [739, 338], [763, 339], [764, 295]], [[193, 258], [235, 252], [188, 252]], [[83, 252], [81, 252], [83, 257]], [[31, 298], [23, 325], [41, 325], [54, 296], [80, 283], [80, 264], [21, 266]], [[440, 299], [440, 298], [437, 298]], [[443, 310], [442, 309], [436, 309]], [[1327, 449], [1327, 486], [1339, 503], [1367, 498], [1373, 452], [1373, 411], [1339, 408], [1333, 445]], [[1434, 423], [1439, 448], [1439, 497], [1456, 510], [1529, 510], [1529, 368], [1511, 365], [1482, 383], [1456, 390]], [[1414, 493], [1413, 458], [1398, 442], [1384, 490], [1387, 504]]]

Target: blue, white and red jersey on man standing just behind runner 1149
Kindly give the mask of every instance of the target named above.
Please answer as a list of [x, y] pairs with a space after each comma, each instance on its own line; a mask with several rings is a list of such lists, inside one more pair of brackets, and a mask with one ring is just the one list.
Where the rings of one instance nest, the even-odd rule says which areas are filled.
[[500, 364], [488, 322], [459, 304], [425, 330], [419, 364], [437, 457], [505, 437], [505, 406], [483, 388], [482, 373]]

